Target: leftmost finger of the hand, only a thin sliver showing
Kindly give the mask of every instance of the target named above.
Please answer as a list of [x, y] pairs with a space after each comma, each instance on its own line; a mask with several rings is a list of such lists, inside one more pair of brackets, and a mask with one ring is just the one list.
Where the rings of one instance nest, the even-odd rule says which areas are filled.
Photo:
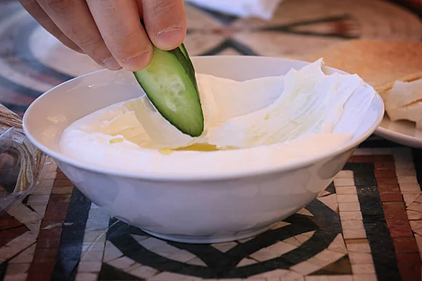
[[32, 15], [32, 17], [39, 22], [39, 24], [44, 27], [44, 29], [50, 32], [53, 37], [56, 37], [60, 42], [62, 42], [68, 48], [71, 48], [73, 51], [79, 53], [84, 53], [77, 44], [63, 34], [60, 29], [54, 24], [53, 20], [44, 12], [44, 10], [39, 6], [37, 0], [19, 0], [20, 4], [25, 8], [25, 10]]

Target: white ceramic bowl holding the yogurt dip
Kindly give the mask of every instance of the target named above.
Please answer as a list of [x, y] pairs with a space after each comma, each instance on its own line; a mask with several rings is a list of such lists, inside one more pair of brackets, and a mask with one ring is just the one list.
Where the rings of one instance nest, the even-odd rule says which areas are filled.
[[[286, 74], [305, 62], [282, 58], [196, 57], [197, 72], [236, 80]], [[330, 69], [330, 72], [336, 70]], [[112, 216], [157, 237], [179, 242], [238, 240], [262, 233], [314, 200], [381, 122], [377, 95], [352, 141], [293, 164], [219, 177], [139, 176], [76, 162], [58, 151], [60, 133], [75, 120], [139, 96], [132, 73], [101, 70], [67, 81], [32, 103], [27, 137], [53, 157], [70, 181]]]

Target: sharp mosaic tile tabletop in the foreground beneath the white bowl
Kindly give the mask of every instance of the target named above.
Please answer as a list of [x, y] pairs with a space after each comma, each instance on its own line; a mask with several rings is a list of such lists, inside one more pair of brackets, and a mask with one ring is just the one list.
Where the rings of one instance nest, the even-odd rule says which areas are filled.
[[[0, 248], [3, 280], [421, 280], [420, 154], [359, 148], [298, 214], [257, 237], [200, 245], [110, 218], [52, 166], [55, 179], [1, 219], [1, 237], [12, 237]], [[42, 219], [16, 211], [44, 195]]]

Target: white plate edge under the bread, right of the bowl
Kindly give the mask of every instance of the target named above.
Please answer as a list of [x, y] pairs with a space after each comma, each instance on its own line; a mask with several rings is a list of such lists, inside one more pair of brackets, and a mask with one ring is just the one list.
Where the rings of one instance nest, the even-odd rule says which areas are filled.
[[422, 130], [416, 129], [414, 122], [392, 122], [387, 115], [375, 131], [377, 136], [411, 148], [422, 148]]

